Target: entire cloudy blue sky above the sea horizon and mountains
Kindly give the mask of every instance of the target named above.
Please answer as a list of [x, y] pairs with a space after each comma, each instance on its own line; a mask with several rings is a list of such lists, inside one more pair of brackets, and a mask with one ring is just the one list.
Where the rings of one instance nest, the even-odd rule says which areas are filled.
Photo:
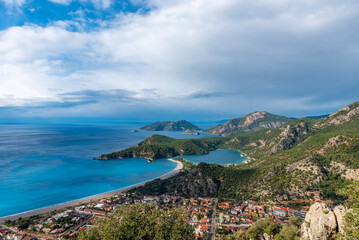
[[358, 26], [357, 0], [0, 0], [0, 122], [332, 113]]

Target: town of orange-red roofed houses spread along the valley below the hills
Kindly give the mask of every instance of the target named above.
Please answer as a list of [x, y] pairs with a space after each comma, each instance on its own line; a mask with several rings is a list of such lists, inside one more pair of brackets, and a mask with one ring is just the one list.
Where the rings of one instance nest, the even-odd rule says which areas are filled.
[[[320, 201], [320, 193], [309, 192], [311, 201]], [[32, 216], [17, 221], [6, 221], [0, 226], [0, 239], [75, 239], [79, 231], [86, 231], [101, 217], [112, 214], [122, 205], [145, 203], [166, 210], [180, 208], [187, 222], [194, 226], [196, 239], [223, 239], [235, 231], [246, 231], [259, 219], [270, 217], [275, 222], [287, 224], [289, 218], [304, 219], [311, 201], [255, 203], [217, 198], [181, 198], [176, 196], [135, 196], [116, 194], [100, 201]]]

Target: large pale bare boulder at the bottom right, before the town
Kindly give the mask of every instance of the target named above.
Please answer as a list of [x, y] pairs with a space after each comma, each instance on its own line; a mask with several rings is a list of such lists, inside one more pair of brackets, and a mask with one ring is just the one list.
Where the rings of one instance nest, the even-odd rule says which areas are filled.
[[303, 240], [333, 239], [337, 233], [337, 220], [334, 213], [324, 204], [313, 204], [302, 224]]

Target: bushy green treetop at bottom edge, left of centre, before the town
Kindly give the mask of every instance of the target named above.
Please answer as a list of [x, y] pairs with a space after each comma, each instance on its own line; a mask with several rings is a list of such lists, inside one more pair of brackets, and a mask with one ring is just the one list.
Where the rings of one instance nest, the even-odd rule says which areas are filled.
[[81, 231], [80, 240], [194, 239], [190, 226], [178, 209], [162, 211], [154, 205], [121, 207], [115, 214], [99, 219], [93, 228]]

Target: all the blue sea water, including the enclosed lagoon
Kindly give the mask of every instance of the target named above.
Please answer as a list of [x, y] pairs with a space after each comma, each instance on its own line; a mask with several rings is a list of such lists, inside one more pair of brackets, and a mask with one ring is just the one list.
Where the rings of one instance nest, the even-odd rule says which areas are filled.
[[[0, 217], [127, 187], [176, 168], [176, 163], [167, 159], [152, 163], [142, 158], [94, 159], [103, 153], [135, 146], [153, 134], [177, 139], [211, 136], [174, 131], [131, 132], [139, 127], [134, 124], [0, 125]], [[216, 150], [188, 160], [226, 164], [237, 163], [239, 159], [239, 152]]]

